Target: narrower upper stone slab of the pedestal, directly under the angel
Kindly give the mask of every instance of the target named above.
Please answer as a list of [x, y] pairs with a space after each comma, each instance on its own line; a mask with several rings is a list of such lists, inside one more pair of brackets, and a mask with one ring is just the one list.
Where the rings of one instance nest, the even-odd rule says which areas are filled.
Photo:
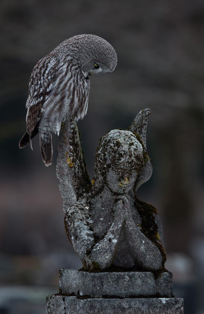
[[172, 296], [172, 273], [162, 273], [154, 279], [150, 272], [88, 273], [76, 269], [61, 269], [60, 291], [62, 295], [76, 296]]

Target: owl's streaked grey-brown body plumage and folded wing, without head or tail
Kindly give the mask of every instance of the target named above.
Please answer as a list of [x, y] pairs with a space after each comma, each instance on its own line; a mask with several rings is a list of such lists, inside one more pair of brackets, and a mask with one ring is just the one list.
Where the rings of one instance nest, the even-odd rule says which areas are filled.
[[54, 54], [44, 57], [35, 66], [26, 103], [28, 133], [40, 120], [39, 131], [45, 134], [46, 141], [49, 133], [59, 133], [68, 112], [77, 119], [85, 116], [90, 82], [74, 61], [70, 57], [59, 61]]

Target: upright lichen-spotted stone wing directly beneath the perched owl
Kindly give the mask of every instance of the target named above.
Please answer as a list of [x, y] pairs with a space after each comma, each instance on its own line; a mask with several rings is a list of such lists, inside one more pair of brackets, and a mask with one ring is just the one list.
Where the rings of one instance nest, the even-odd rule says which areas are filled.
[[62, 122], [58, 138], [57, 177], [64, 199], [64, 210], [76, 203], [91, 185], [83, 157], [76, 120], [73, 116]]

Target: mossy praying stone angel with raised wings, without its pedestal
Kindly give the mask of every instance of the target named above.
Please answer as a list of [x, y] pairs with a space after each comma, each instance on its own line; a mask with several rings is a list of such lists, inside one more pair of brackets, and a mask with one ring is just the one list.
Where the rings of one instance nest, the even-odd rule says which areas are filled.
[[57, 177], [65, 229], [85, 270], [164, 269], [157, 209], [136, 195], [152, 174], [146, 148], [150, 113], [150, 109], [140, 111], [129, 131], [112, 130], [100, 139], [92, 181], [74, 117], [62, 123]]

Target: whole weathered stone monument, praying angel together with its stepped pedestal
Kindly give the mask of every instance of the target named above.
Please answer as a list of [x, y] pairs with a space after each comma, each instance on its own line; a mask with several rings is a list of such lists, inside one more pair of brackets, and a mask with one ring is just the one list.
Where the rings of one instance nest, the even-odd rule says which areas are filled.
[[100, 139], [92, 182], [75, 119], [62, 124], [57, 176], [65, 229], [89, 272], [61, 270], [60, 293], [47, 296], [46, 314], [183, 314], [183, 299], [172, 297], [172, 274], [153, 275], [166, 260], [157, 209], [136, 195], [152, 173], [149, 114], [142, 110], [130, 131], [112, 130]]

